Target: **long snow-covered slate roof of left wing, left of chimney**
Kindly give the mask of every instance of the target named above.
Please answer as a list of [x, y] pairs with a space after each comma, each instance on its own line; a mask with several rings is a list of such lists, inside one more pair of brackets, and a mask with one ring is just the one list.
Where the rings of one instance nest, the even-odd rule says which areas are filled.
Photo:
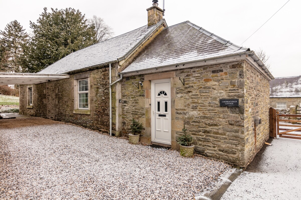
[[[163, 22], [165, 23], [164, 19], [158, 24], [160, 25]], [[65, 56], [41, 70], [39, 73], [68, 73], [70, 71], [116, 61], [117, 58], [126, 55], [140, 40], [144, 40], [144, 37], [147, 37], [147, 35], [154, 31], [155, 28], [156, 25], [150, 27], [145, 25], [128, 33], [88, 46]], [[120, 60], [122, 59], [123, 58]]]

